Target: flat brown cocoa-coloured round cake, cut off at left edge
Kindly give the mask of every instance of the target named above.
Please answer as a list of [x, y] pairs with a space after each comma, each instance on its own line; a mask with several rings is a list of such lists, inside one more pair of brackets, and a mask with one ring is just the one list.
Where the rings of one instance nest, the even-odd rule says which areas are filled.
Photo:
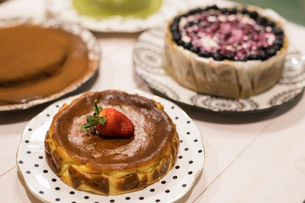
[[60, 92], [92, 66], [85, 42], [60, 29], [1, 28], [0, 44], [0, 105]]

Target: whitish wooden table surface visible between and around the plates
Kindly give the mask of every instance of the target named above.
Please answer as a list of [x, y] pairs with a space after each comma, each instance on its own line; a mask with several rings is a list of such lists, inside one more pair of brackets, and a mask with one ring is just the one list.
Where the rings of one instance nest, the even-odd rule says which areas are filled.
[[[196, 1], [196, 0], [195, 0]], [[198, 0], [197, 0], [198, 1]], [[0, 4], [0, 18], [44, 14], [41, 0]], [[287, 23], [291, 42], [305, 54], [305, 28]], [[102, 47], [99, 72], [67, 96], [89, 90], [151, 92], [133, 72], [135, 34], [95, 33]], [[16, 166], [16, 151], [29, 120], [48, 104], [0, 114], [0, 203], [40, 203]], [[182, 107], [202, 132], [203, 171], [177, 203], [303, 203], [305, 200], [305, 97], [273, 111], [221, 114]]]

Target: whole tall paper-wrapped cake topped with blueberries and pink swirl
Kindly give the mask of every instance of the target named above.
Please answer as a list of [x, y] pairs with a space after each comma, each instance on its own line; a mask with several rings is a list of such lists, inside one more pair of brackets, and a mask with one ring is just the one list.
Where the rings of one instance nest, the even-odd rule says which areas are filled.
[[230, 98], [247, 98], [281, 77], [288, 41], [279, 19], [248, 8], [190, 10], [166, 29], [164, 67], [182, 86]]

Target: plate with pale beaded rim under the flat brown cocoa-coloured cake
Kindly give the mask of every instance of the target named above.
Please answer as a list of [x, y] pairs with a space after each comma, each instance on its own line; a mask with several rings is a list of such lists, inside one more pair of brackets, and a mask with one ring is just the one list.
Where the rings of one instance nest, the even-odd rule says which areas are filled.
[[48, 101], [55, 100], [69, 92], [75, 91], [79, 86], [81, 86], [83, 83], [88, 81], [96, 72], [98, 66], [99, 66], [99, 60], [100, 60], [100, 47], [97, 39], [94, 37], [94, 35], [88, 31], [85, 28], [82, 28], [74, 23], [71, 22], [63, 22], [63, 21], [57, 21], [54, 19], [46, 19], [42, 21], [38, 21], [36, 19], [31, 18], [8, 18], [8, 19], [0, 19], [0, 27], [11, 27], [16, 26], [20, 24], [35, 24], [39, 25], [41, 27], [47, 27], [47, 28], [56, 28], [56, 29], [62, 29], [67, 32], [73, 33], [74, 35], [77, 35], [82, 38], [82, 40], [87, 44], [88, 49], [88, 58], [90, 61], [92, 61], [92, 64], [95, 64], [94, 66], [90, 67], [89, 71], [86, 72], [86, 74], [82, 75], [82, 78], [80, 78], [77, 82], [72, 83], [65, 87], [60, 92], [54, 93], [52, 95], [46, 96], [44, 98], [31, 100], [25, 103], [20, 104], [7, 104], [7, 105], [0, 105], [0, 111], [13, 111], [13, 110], [20, 110], [20, 109], [27, 109]]

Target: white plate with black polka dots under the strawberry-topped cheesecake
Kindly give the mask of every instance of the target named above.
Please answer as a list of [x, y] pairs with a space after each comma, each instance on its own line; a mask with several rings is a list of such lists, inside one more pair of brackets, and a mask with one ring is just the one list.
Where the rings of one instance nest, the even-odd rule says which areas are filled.
[[34, 117], [24, 129], [17, 152], [17, 166], [30, 191], [47, 203], [172, 203], [185, 195], [200, 173], [205, 158], [201, 133], [191, 118], [177, 105], [147, 92], [130, 91], [164, 105], [176, 124], [180, 139], [177, 161], [160, 181], [121, 195], [102, 196], [76, 190], [60, 180], [45, 160], [44, 136], [52, 117], [64, 103], [79, 95], [59, 100]]

